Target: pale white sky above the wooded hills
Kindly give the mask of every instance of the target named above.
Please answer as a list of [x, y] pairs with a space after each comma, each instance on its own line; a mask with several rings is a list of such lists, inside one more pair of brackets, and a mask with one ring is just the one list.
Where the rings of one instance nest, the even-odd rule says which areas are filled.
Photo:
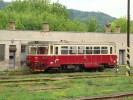
[[[51, 0], [51, 2], [57, 1], [65, 5], [67, 9], [103, 12], [115, 18], [127, 17], [128, 0]], [[133, 20], [133, 0], [130, 0], [130, 16]]]

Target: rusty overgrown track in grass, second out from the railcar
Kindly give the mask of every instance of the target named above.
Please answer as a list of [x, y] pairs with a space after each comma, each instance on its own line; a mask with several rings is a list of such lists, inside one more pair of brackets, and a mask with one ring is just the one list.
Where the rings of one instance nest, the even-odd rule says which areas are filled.
[[0, 78], [0, 83], [16, 83], [16, 82], [37, 82], [37, 81], [58, 81], [58, 80], [67, 80], [67, 79], [82, 79], [82, 78], [104, 78], [104, 77], [117, 77], [116, 75], [94, 75], [94, 76], [86, 76], [86, 75], [65, 75], [63, 77], [54, 77], [54, 78], [13, 78], [9, 79], [9, 77]]

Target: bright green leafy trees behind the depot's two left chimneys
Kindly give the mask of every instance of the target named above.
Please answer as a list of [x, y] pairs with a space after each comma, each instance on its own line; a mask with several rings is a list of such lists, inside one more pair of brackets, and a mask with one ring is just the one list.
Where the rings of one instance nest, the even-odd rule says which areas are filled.
[[[0, 29], [14, 21], [18, 30], [41, 30], [49, 22], [52, 31], [87, 31], [79, 20], [70, 20], [64, 5], [50, 0], [16, 0], [0, 11]], [[71, 26], [71, 27], [70, 27]]]

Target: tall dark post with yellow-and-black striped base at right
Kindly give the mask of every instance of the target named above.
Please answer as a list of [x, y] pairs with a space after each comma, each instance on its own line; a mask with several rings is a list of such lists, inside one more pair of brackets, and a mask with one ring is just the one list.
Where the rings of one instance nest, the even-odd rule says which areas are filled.
[[127, 3], [127, 66], [126, 75], [130, 76], [130, 0]]

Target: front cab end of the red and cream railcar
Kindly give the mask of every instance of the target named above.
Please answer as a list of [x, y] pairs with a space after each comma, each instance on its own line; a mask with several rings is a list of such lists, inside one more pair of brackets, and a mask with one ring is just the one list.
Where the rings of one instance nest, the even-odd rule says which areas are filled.
[[48, 43], [42, 41], [28, 42], [26, 64], [32, 71], [44, 71], [45, 63], [43, 59], [48, 55]]

